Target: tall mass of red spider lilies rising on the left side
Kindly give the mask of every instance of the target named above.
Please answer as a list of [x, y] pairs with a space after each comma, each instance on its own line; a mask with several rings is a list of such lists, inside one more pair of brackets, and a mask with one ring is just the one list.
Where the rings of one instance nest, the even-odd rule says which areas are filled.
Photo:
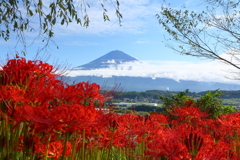
[[[99, 129], [102, 113], [95, 107], [101, 107], [105, 99], [99, 85], [86, 82], [68, 85], [58, 80], [55, 73], [47, 63], [24, 58], [9, 60], [0, 71], [1, 117], [11, 121], [14, 128], [26, 124], [30, 135], [46, 135], [39, 136], [38, 141], [36, 137], [33, 139], [34, 152], [38, 154], [45, 154], [46, 137], [51, 136], [48, 149], [51, 157], [59, 157], [62, 151], [53, 152], [64, 146], [56, 134], [85, 130], [90, 136], [102, 130]], [[26, 147], [26, 141], [21, 138], [19, 143]]]

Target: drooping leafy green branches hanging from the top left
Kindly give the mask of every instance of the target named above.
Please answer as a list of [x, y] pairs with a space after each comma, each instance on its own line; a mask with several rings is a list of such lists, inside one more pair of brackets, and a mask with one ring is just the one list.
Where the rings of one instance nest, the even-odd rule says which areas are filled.
[[[122, 15], [118, 0], [98, 1], [103, 9], [103, 20], [110, 21], [105, 3], [112, 3], [116, 10], [119, 24]], [[54, 36], [53, 27], [57, 24], [69, 25], [72, 22], [88, 27], [90, 18], [87, 0], [1, 0], [0, 1], [0, 38], [8, 41], [12, 33], [26, 48], [25, 34], [38, 33], [36, 39], [46, 43]], [[26, 51], [26, 50], [25, 50]]]

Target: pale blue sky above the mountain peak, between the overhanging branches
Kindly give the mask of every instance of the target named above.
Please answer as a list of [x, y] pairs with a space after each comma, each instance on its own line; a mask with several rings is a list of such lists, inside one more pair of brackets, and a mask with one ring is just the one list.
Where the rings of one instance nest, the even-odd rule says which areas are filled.
[[[169, 1], [173, 7], [182, 4], [195, 5], [191, 1]], [[85, 29], [76, 24], [55, 26], [54, 41], [59, 46], [50, 45], [48, 49], [51, 60], [54, 58], [65, 61], [72, 67], [88, 63], [112, 50], [121, 50], [139, 60], [188, 60], [198, 61], [196, 58], [181, 56], [173, 53], [171, 49], [162, 43], [166, 34], [158, 24], [156, 14], [163, 4], [161, 0], [120, 0], [120, 11], [123, 15], [122, 27], [117, 23], [114, 8], [106, 3], [110, 22], [103, 22], [102, 9], [99, 3], [89, 1], [88, 9], [90, 27]], [[166, 34], [167, 35], [167, 34]], [[28, 44], [32, 41], [32, 35], [27, 35]], [[2, 53], [13, 53], [16, 49], [14, 35], [8, 42], [0, 40]], [[35, 55], [38, 47], [43, 44], [36, 42], [28, 47], [28, 57]], [[21, 47], [18, 47], [21, 49]]]

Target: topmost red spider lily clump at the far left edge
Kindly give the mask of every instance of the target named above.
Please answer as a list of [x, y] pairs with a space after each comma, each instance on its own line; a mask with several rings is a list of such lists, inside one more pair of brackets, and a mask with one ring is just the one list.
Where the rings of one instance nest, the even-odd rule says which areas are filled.
[[[33, 106], [38, 106], [46, 101], [46, 97], [43, 97], [42, 93], [60, 82], [56, 79], [57, 75], [54, 72], [53, 66], [42, 61], [26, 61], [24, 58], [12, 59], [0, 71], [1, 84], [2, 86], [14, 85], [24, 89], [25, 93], [22, 94], [22, 97], [25, 98], [25, 101], [29, 101]], [[13, 88], [9, 91], [14, 93]], [[16, 99], [17, 96], [13, 95], [11, 98]]]

